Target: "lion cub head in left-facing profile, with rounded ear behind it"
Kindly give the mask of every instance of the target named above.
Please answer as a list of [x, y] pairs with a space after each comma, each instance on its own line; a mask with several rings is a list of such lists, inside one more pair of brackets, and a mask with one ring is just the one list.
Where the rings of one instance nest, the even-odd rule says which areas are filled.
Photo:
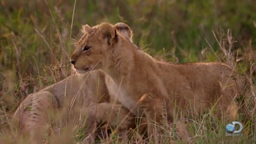
[[101, 23], [94, 27], [84, 25], [84, 35], [79, 39], [76, 50], [70, 57], [77, 73], [102, 68], [104, 54], [118, 42], [118, 37], [132, 42], [132, 30], [125, 23], [119, 22], [116, 25]]

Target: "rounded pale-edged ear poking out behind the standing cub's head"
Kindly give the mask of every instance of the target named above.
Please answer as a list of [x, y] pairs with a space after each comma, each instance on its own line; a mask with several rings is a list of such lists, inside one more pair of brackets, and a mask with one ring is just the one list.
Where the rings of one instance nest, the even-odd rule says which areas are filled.
[[127, 38], [130, 42], [132, 42], [133, 32], [128, 25], [126, 25], [123, 22], [118, 22], [114, 25], [114, 28], [118, 31], [119, 34]]

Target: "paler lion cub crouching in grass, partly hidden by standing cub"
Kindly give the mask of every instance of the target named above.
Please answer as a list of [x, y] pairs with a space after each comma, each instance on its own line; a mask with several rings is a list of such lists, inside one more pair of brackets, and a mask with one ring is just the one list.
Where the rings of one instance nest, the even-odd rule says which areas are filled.
[[[118, 23], [117, 26], [124, 27], [127, 25]], [[98, 26], [95, 27], [98, 28]], [[89, 28], [91, 27], [85, 25], [82, 31], [86, 34]], [[122, 33], [129, 33], [125, 36], [131, 37], [126, 38], [132, 38], [131, 31], [125, 33], [122, 29]], [[134, 116], [129, 115], [129, 110], [121, 107], [121, 105], [110, 102], [105, 74], [100, 70], [94, 70], [86, 74], [73, 74], [37, 93], [28, 95], [15, 111], [13, 118], [18, 121], [22, 133], [33, 135], [32, 133], [37, 131], [39, 126], [43, 126], [47, 122], [46, 112], [50, 107], [65, 107], [67, 113], [70, 109], [83, 111], [83, 116], [89, 116], [87, 123], [90, 127], [87, 128], [91, 131], [93, 125], [90, 124], [94, 122], [97, 124], [109, 122], [110, 126], [116, 126], [116, 118], [124, 118], [127, 115], [128, 120], [119, 127], [121, 137], [123, 137], [130, 127], [135, 126]]]

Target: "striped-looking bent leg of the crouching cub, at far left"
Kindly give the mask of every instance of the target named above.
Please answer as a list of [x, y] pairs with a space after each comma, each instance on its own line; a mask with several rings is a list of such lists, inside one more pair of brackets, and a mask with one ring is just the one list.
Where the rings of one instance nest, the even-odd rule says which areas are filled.
[[43, 131], [43, 127], [47, 123], [47, 111], [57, 107], [58, 103], [54, 95], [42, 91], [28, 95], [15, 111], [13, 118], [18, 123], [21, 133], [29, 134], [33, 139], [32, 137], [38, 137]]

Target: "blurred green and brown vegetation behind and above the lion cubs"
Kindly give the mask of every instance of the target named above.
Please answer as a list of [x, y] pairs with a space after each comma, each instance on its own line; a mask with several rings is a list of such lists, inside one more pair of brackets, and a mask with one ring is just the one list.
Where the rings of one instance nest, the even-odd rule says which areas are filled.
[[239, 73], [252, 73], [256, 61], [254, 0], [0, 2], [0, 101], [9, 110], [20, 98], [66, 77], [72, 43], [84, 24], [125, 22], [136, 45], [173, 63], [225, 60], [220, 47], [229, 30], [232, 50], [242, 61]]

